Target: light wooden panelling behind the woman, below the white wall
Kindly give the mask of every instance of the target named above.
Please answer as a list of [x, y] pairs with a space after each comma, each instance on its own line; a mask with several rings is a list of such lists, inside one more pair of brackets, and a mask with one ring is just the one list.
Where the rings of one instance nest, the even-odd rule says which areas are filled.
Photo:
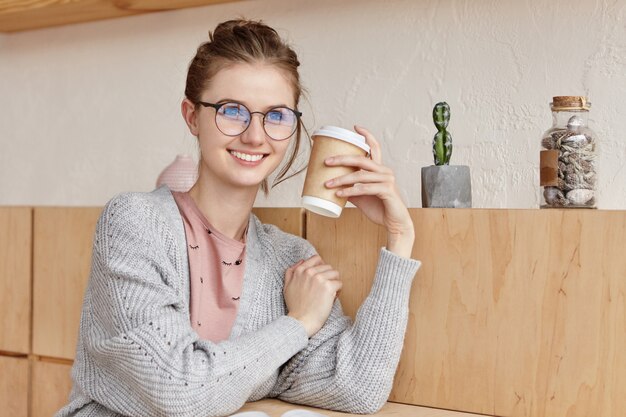
[[[100, 210], [0, 207], [0, 399], [12, 415], [50, 415], [67, 401]], [[356, 209], [337, 220], [300, 209], [255, 213], [306, 236], [339, 270], [340, 299], [354, 317], [384, 230]], [[379, 416], [626, 415], [626, 211], [410, 213], [422, 267], [394, 403]], [[262, 401], [244, 410], [278, 416], [289, 407]]]

